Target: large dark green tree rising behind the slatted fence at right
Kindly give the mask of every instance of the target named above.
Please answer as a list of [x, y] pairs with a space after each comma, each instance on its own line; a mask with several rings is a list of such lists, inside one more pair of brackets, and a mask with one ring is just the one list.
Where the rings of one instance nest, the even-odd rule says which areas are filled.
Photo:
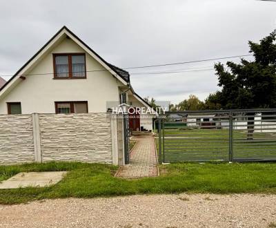
[[255, 61], [241, 59], [215, 64], [221, 91], [210, 94], [206, 104], [215, 108], [274, 108], [276, 106], [276, 31], [259, 44], [249, 41]]

